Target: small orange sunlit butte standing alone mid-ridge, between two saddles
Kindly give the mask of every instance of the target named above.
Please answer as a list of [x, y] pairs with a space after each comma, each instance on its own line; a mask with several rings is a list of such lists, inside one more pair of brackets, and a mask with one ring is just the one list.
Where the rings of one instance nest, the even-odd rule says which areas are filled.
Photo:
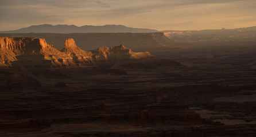
[[65, 39], [65, 47], [60, 51], [63, 53], [86, 53], [76, 46], [76, 42], [72, 38]]

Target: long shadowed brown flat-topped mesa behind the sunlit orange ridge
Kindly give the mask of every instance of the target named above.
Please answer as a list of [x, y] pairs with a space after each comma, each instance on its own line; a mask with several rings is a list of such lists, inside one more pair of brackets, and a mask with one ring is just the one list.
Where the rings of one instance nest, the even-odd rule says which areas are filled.
[[94, 50], [99, 45], [111, 47], [123, 43], [133, 51], [149, 51], [156, 54], [159, 50], [166, 50], [178, 43], [171, 41], [164, 33], [71, 33], [71, 34], [48, 34], [48, 33], [19, 33], [0, 34], [0, 37], [37, 37], [45, 38], [56, 49], [63, 48], [63, 41], [73, 38], [82, 50]]

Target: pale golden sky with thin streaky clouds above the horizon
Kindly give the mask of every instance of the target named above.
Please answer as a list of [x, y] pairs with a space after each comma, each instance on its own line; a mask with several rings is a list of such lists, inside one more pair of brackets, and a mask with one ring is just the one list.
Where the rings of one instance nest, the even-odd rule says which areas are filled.
[[255, 0], [0, 0], [0, 30], [125, 25], [156, 30], [256, 26]]

